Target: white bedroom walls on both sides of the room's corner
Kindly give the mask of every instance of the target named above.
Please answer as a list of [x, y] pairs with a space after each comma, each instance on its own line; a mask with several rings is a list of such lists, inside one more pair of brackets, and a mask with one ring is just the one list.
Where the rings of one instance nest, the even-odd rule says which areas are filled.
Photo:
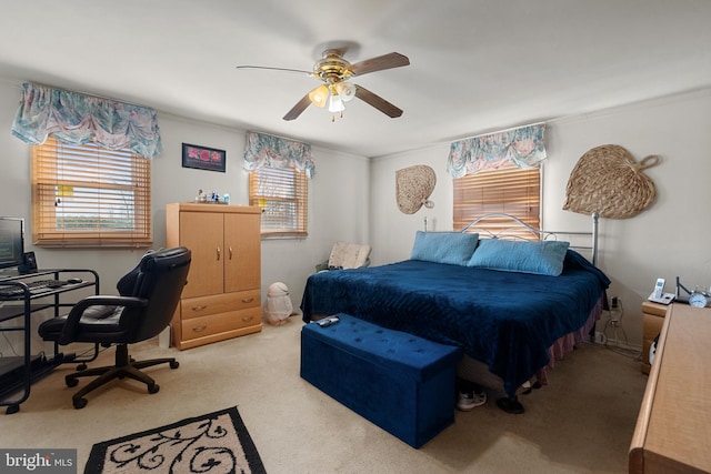
[[[31, 235], [29, 147], [10, 133], [20, 97], [20, 83], [0, 81], [0, 215], [23, 216]], [[121, 98], [114, 98], [120, 100]], [[234, 204], [247, 204], [247, 174], [241, 157], [244, 131], [161, 114], [164, 151], [152, 161], [153, 246], [166, 242], [164, 204], [190, 201], [198, 189], [229, 192]], [[658, 191], [655, 203], [627, 220], [602, 219], [600, 266], [612, 280], [609, 295], [623, 302], [623, 326], [630, 343], [640, 344], [640, 304], [657, 278], [673, 291], [675, 276], [693, 289], [711, 285], [711, 235], [707, 182], [711, 177], [711, 90], [618, 108], [550, 122], [549, 160], [543, 173], [543, 225], [552, 230], [590, 229], [585, 215], [562, 211], [565, 184], [578, 159], [593, 147], [614, 143], [637, 161], [659, 154], [661, 163], [647, 170]], [[181, 143], [227, 150], [227, 172], [183, 169]], [[451, 230], [452, 180], [445, 163], [449, 143], [369, 160], [314, 148], [317, 175], [309, 182], [309, 236], [303, 240], [262, 241], [262, 296], [269, 284], [287, 283], [297, 307], [313, 265], [328, 258], [336, 240], [368, 242], [372, 263], [407, 259], [414, 232]], [[428, 164], [438, 183], [434, 209], [414, 214], [398, 210], [394, 172]], [[93, 268], [102, 289], [113, 292], [116, 281], [138, 261], [140, 250], [63, 250], [34, 248], [40, 266]], [[0, 352], [4, 351], [0, 340]]]

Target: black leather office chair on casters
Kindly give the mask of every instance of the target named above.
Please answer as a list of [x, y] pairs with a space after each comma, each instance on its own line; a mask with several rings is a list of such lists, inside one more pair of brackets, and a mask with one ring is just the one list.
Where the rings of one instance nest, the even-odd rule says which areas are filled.
[[166, 363], [178, 369], [173, 357], [133, 361], [128, 344], [154, 337], [168, 326], [187, 283], [190, 259], [190, 250], [184, 246], [147, 253], [117, 284], [119, 296], [86, 297], [68, 315], [40, 324], [42, 339], [60, 345], [91, 342], [117, 346], [114, 365], [66, 376], [67, 386], [77, 386], [78, 377], [98, 376], [72, 396], [74, 409], [83, 409], [84, 395], [113, 379], [134, 379], [148, 385], [149, 393], [156, 393], [159, 385], [141, 369]]

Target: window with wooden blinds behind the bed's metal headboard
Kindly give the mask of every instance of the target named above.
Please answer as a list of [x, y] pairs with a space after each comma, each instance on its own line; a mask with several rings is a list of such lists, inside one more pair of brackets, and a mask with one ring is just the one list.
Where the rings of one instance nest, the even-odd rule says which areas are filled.
[[[520, 169], [513, 163], [494, 171], [480, 171], [454, 180], [454, 230], [463, 229], [474, 219], [503, 212], [515, 215], [540, 230], [540, 168]], [[482, 225], [498, 232], [511, 226], [511, 221], [491, 220]], [[524, 233], [521, 233], [524, 235]], [[531, 238], [528, 233], [527, 238]]]

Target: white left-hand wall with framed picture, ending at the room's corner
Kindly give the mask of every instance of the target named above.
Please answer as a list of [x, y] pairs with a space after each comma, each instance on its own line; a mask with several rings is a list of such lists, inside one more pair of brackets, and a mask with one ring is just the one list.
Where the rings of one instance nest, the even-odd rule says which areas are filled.
[[[30, 147], [11, 134], [20, 83], [0, 80], [0, 215], [26, 219], [26, 251], [34, 251], [41, 268], [90, 268], [101, 290], [116, 293], [116, 282], [143, 254], [130, 249], [42, 249], [31, 242]], [[121, 100], [121, 98], [113, 98]], [[199, 189], [230, 193], [231, 203], [248, 204], [248, 174], [242, 170], [244, 130], [191, 121], [158, 111], [163, 152], [152, 160], [153, 248], [166, 245], [169, 202], [192, 201]], [[182, 168], [182, 143], [227, 151], [227, 172]], [[262, 299], [268, 286], [284, 282], [298, 307], [306, 280], [329, 256], [336, 240], [365, 242], [369, 229], [369, 160], [313, 148], [316, 177], [309, 181], [309, 235], [262, 241]], [[38, 337], [34, 337], [37, 343]], [[0, 339], [0, 353], [9, 351]]]

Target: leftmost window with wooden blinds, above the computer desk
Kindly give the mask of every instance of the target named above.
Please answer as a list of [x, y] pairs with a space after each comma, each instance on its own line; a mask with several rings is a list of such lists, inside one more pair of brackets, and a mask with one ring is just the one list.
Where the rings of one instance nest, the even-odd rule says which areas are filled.
[[149, 246], [151, 163], [49, 138], [32, 147], [32, 238], [47, 246]]

